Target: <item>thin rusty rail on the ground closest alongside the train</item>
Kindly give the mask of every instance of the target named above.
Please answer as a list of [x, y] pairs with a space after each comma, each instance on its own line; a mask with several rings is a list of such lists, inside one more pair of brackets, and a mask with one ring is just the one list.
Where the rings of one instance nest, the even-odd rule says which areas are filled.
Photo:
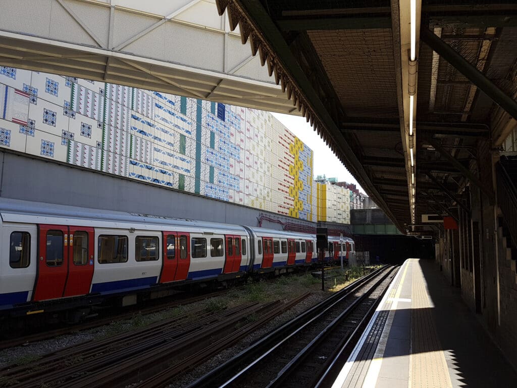
[[204, 294], [204, 295], [197, 295], [197, 296], [192, 296], [192, 297], [184, 298], [184, 299], [176, 299], [173, 301], [168, 301], [166, 303], [161, 303], [161, 304], [157, 304], [157, 305], [146, 307], [146, 308], [133, 308], [128, 312], [124, 312], [123, 314], [117, 314], [117, 315], [110, 314], [107, 317], [98, 318], [98, 319], [95, 319], [94, 321], [90, 321], [90, 322], [84, 322], [81, 324], [72, 324], [72, 325], [67, 325], [65, 327], [61, 327], [60, 329], [42, 331], [42, 332], [31, 334], [31, 335], [25, 335], [25, 336], [19, 336], [19, 337], [15, 337], [15, 338], [5, 339], [5, 340], [0, 341], [0, 350], [8, 349], [8, 348], [12, 348], [15, 346], [20, 346], [20, 345], [28, 345], [33, 342], [54, 338], [54, 337], [64, 335], [64, 334], [81, 332], [81, 331], [88, 330], [88, 329], [94, 329], [95, 327], [108, 325], [115, 320], [131, 319], [136, 314], [141, 314], [141, 315], [153, 314], [154, 312], [169, 309], [172, 307], [176, 307], [176, 306], [180, 306], [180, 305], [187, 305], [190, 303], [199, 302], [204, 299], [208, 299], [210, 297], [223, 295], [226, 292], [227, 292], [226, 290], [216, 291], [216, 292], [211, 292], [211, 293]]

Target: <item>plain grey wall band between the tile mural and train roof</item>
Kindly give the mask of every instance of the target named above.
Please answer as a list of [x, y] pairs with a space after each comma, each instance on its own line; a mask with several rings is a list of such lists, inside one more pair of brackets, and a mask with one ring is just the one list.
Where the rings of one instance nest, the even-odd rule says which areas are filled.
[[[261, 210], [99, 172], [0, 152], [1, 196], [37, 202], [257, 226]], [[315, 223], [278, 217], [283, 222]], [[277, 223], [263, 225], [281, 229]]]

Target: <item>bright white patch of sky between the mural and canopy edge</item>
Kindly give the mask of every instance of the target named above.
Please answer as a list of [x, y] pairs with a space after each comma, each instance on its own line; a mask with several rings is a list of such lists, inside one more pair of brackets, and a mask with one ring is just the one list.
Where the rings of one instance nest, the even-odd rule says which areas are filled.
[[351, 173], [343, 166], [343, 163], [325, 144], [322, 138], [311, 127], [305, 117], [293, 116], [290, 114], [271, 113], [283, 125], [287, 127], [294, 135], [303, 143], [309, 146], [313, 151], [313, 175], [326, 175], [327, 178], [338, 178], [338, 182], [355, 183], [359, 190], [364, 190], [359, 186]]

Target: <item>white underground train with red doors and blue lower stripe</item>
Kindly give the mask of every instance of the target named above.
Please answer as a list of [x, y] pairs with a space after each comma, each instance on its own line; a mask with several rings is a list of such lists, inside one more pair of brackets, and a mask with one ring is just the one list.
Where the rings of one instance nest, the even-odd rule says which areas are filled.
[[[317, 261], [314, 234], [0, 200], [0, 316], [88, 310], [177, 286], [293, 271]], [[329, 237], [326, 260], [354, 255]], [[9, 257], [9, 260], [7, 260]]]

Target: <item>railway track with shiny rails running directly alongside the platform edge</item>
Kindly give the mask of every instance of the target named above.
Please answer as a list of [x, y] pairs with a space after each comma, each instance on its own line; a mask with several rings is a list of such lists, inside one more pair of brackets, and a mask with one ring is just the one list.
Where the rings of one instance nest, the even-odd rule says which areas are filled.
[[343, 357], [343, 347], [353, 347], [396, 272], [395, 267], [382, 267], [357, 280], [189, 388], [315, 386], [332, 360]]

